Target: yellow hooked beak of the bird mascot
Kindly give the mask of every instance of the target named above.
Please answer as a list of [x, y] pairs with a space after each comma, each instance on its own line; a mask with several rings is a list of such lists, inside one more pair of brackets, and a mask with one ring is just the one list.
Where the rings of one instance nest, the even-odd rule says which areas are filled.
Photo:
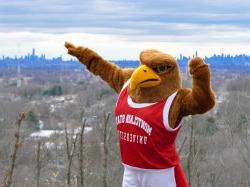
[[130, 79], [130, 89], [136, 87], [149, 88], [158, 86], [161, 83], [161, 78], [148, 66], [139, 66], [132, 74]]

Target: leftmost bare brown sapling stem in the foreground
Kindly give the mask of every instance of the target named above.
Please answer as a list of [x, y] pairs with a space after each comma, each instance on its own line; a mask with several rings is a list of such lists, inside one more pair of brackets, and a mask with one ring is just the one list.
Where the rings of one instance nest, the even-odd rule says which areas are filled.
[[11, 158], [10, 167], [6, 172], [4, 182], [3, 182], [3, 187], [10, 187], [13, 183], [13, 173], [14, 173], [14, 169], [16, 166], [17, 152], [20, 147], [20, 127], [24, 119], [25, 119], [25, 113], [20, 113], [16, 121], [17, 131], [15, 133], [15, 143], [13, 146], [13, 150], [10, 155], [10, 158]]

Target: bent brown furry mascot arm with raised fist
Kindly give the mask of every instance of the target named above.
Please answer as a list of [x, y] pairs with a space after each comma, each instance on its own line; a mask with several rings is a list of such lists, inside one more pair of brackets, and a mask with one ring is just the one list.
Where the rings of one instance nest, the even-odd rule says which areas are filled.
[[180, 90], [180, 116], [202, 114], [215, 105], [215, 94], [210, 85], [210, 70], [201, 58], [189, 62], [192, 89]]

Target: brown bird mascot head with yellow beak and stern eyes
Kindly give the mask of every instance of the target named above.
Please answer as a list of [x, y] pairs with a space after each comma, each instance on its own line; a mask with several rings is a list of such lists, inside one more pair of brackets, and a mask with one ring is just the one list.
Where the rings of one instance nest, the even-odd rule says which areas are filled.
[[135, 102], [158, 102], [181, 88], [180, 70], [171, 55], [145, 50], [140, 54], [140, 63], [129, 85], [129, 95]]

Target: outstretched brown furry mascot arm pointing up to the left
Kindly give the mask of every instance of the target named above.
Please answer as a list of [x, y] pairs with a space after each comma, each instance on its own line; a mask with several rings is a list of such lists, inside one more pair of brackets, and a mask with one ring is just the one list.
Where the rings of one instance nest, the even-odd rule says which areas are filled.
[[133, 69], [122, 69], [117, 65], [104, 60], [96, 52], [85, 47], [75, 47], [68, 42], [65, 43], [68, 53], [78, 58], [86, 68], [94, 75], [99, 75], [117, 93], [120, 92], [123, 84], [133, 73]]

